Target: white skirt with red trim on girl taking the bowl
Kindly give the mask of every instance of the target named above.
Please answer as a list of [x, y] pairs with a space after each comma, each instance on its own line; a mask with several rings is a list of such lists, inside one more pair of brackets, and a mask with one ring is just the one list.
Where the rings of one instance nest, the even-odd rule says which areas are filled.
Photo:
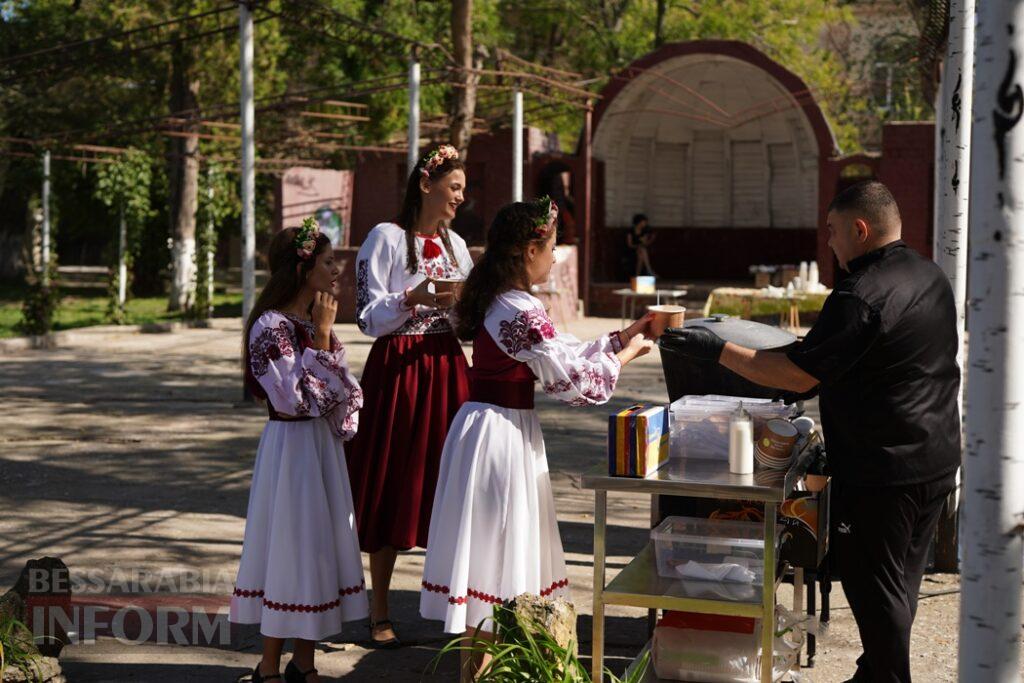
[[534, 411], [470, 401], [441, 455], [420, 613], [462, 633], [521, 593], [568, 597], [544, 436]]

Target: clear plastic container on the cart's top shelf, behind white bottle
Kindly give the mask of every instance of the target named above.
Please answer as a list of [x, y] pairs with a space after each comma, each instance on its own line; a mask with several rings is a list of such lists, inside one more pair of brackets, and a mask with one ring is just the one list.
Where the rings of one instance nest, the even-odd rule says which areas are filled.
[[729, 416], [742, 401], [754, 432], [775, 418], [788, 418], [793, 407], [779, 400], [745, 396], [683, 396], [670, 407], [669, 457], [729, 459]]

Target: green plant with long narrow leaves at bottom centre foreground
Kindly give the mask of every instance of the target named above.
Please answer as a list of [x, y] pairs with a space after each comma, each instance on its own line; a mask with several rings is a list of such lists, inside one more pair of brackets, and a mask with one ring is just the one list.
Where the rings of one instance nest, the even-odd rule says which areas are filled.
[[[497, 638], [480, 637], [484, 624], [493, 623]], [[442, 656], [449, 652], [469, 651], [487, 655], [490, 660], [483, 667], [476, 680], [479, 683], [593, 683], [586, 667], [575, 653], [574, 643], [562, 647], [541, 625], [527, 622], [515, 611], [496, 605], [494, 614], [480, 623], [471, 636], [460, 636], [449, 642], [431, 663], [437, 671]], [[639, 683], [647, 670], [649, 653], [626, 678], [617, 678], [607, 669], [612, 683]]]

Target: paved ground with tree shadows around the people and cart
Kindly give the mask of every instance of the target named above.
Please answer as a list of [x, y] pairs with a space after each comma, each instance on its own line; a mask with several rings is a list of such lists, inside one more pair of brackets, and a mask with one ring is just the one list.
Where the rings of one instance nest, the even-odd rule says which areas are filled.
[[[616, 323], [591, 318], [571, 331], [596, 336]], [[354, 326], [337, 331], [360, 371], [371, 340]], [[57, 350], [0, 355], [0, 587], [12, 583], [27, 559], [54, 555], [89, 572], [97, 586], [140, 571], [150, 572], [146, 586], [154, 575], [163, 578], [165, 592], [142, 596], [145, 604], [223, 604], [265, 419], [262, 408], [240, 401], [240, 335], [237, 319], [173, 334], [95, 328]], [[539, 399], [588, 654], [593, 495], [580, 489], [578, 478], [604, 460], [608, 412], [637, 399], [666, 399], [656, 352], [627, 369], [610, 407], [568, 409]], [[609, 503], [610, 574], [643, 546], [648, 499], [615, 495]], [[393, 616], [410, 646], [368, 649], [366, 625], [348, 625], [321, 647], [317, 666], [326, 680], [453, 680], [451, 661], [437, 674], [425, 673], [446, 639], [418, 616], [422, 565], [422, 552], [403, 554], [393, 587]], [[187, 586], [198, 572], [200, 588]], [[172, 584], [178, 593], [166, 593]], [[916, 680], [955, 679], [957, 591], [955, 577], [926, 580], [913, 638]], [[606, 653], [616, 673], [646, 639], [644, 614], [609, 610]], [[229, 644], [215, 647], [99, 638], [67, 648], [61, 661], [75, 682], [229, 681], [253, 667], [258, 651], [258, 634], [238, 629]], [[837, 586], [813, 680], [845, 680], [857, 653], [853, 620]]]

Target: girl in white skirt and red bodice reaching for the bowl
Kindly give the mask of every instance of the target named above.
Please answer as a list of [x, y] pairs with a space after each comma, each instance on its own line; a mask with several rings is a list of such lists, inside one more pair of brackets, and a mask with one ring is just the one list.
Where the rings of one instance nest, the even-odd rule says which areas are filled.
[[[473, 340], [470, 398], [444, 443], [420, 598], [447, 633], [520, 593], [567, 593], [535, 382], [570, 405], [603, 403], [651, 348], [649, 315], [589, 343], [555, 330], [528, 289], [548, 279], [556, 219], [550, 201], [502, 208], [456, 304], [457, 334]], [[463, 680], [484, 664], [466, 654]]]

